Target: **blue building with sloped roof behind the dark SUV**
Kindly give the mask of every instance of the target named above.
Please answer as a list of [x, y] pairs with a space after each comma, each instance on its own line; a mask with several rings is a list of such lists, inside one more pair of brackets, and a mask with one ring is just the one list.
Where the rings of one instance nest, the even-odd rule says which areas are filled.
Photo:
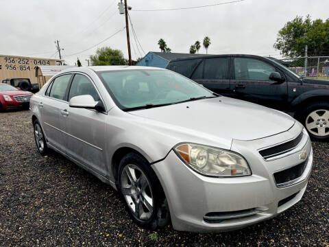
[[192, 56], [204, 56], [206, 54], [181, 54], [149, 51], [144, 58], [139, 60], [136, 65], [165, 68], [167, 64], [176, 58], [190, 58]]

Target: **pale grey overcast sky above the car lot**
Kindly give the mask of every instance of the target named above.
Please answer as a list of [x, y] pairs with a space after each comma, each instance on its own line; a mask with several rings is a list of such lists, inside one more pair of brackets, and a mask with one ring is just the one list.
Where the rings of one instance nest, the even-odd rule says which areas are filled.
[[[241, 53], [278, 57], [280, 52], [273, 49], [273, 43], [284, 23], [297, 15], [310, 14], [313, 19], [329, 17], [328, 0], [245, 0], [192, 10], [133, 11], [184, 8], [226, 1], [232, 0], [128, 0], [128, 5], [132, 6], [130, 16], [145, 53], [159, 51], [159, 38], [167, 42], [172, 52], [187, 53], [195, 40], [202, 43], [204, 36], [209, 36], [211, 45], [208, 54]], [[54, 41], [60, 40], [60, 46], [64, 48], [62, 56], [69, 64], [74, 64], [78, 57], [86, 65], [85, 59], [95, 54], [97, 47], [103, 46], [121, 49], [127, 58], [127, 40], [123, 30], [125, 18], [119, 14], [118, 2], [0, 0], [0, 54], [58, 58]], [[118, 30], [122, 31], [88, 49]], [[130, 36], [132, 58], [136, 59], [140, 55], [132, 33]], [[202, 47], [199, 53], [206, 51]]]

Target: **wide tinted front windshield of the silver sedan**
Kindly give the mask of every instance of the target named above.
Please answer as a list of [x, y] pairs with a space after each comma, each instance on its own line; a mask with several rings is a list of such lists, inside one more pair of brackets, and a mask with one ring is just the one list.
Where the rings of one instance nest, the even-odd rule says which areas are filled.
[[101, 71], [98, 74], [114, 101], [125, 110], [216, 97], [199, 84], [168, 70]]

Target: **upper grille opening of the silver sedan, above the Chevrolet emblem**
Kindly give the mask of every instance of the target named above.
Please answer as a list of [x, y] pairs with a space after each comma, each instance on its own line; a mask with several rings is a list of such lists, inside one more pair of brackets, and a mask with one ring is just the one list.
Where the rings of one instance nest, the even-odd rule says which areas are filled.
[[286, 143], [282, 143], [280, 145], [276, 145], [271, 148], [267, 148], [265, 150], [260, 150], [259, 153], [265, 159], [284, 154], [285, 152], [289, 152], [290, 150], [293, 150], [295, 147], [297, 147], [300, 141], [302, 141], [302, 138], [303, 132], [300, 132], [300, 134], [298, 134], [295, 139], [287, 141]]

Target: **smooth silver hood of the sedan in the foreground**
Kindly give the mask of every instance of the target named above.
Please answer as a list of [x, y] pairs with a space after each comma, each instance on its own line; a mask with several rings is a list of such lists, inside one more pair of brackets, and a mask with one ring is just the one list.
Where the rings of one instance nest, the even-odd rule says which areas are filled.
[[253, 140], [289, 130], [295, 120], [278, 110], [239, 99], [215, 97], [130, 112], [184, 132], [216, 139]]

